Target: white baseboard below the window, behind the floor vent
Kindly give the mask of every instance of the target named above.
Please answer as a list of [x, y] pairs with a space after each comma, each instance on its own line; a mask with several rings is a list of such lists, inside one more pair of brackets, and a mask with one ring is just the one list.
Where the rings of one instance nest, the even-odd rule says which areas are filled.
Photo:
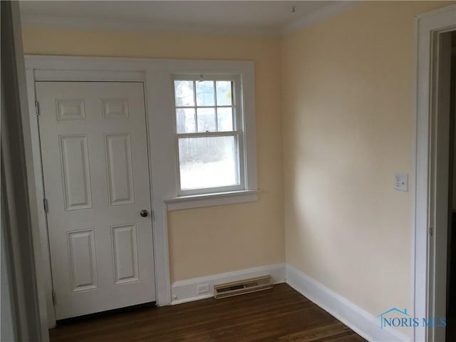
[[[285, 270], [285, 264], [273, 264], [254, 267], [252, 269], [242, 269], [239, 271], [214, 274], [212, 276], [202, 276], [199, 278], [175, 281], [171, 284], [171, 305], [213, 297], [213, 286], [227, 283], [229, 281], [239, 281], [242, 279], [254, 278], [256, 276], [270, 275], [273, 284], [284, 283]], [[197, 286], [204, 284], [209, 285], [209, 292], [205, 294], [197, 294]]]

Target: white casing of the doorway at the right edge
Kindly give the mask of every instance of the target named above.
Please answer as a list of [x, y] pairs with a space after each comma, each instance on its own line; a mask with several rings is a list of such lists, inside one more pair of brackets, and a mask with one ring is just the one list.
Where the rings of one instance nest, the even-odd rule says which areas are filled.
[[[455, 30], [456, 5], [417, 16], [416, 116], [415, 116], [415, 202], [412, 230], [412, 310], [415, 317], [435, 314], [436, 255], [432, 252], [444, 237], [435, 225], [436, 175], [435, 144], [437, 132], [435, 71], [439, 35]], [[430, 229], [433, 229], [432, 236]], [[445, 232], [443, 232], [445, 230]], [[445, 245], [446, 246], [446, 245]], [[445, 249], [446, 250], [446, 249]], [[437, 258], [438, 259], [438, 258]], [[412, 341], [435, 341], [435, 328], [413, 328]]]

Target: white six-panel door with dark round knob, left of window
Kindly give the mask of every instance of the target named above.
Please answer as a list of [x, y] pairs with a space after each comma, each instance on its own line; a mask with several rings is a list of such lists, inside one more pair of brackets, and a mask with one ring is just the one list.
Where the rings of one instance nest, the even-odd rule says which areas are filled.
[[36, 98], [56, 318], [155, 301], [142, 83], [36, 82]]

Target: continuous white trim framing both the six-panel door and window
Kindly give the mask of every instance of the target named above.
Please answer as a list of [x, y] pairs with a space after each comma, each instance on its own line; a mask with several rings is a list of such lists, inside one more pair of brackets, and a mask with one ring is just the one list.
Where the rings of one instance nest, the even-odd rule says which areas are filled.
[[[76, 57], [76, 56], [25, 56], [26, 79], [28, 93], [28, 109], [30, 119], [30, 135], [32, 141], [33, 165], [41, 165], [38, 142], [38, 126], [35, 114], [35, 81], [120, 81], [143, 82], [145, 85], [145, 105], [147, 113], [147, 139], [150, 157], [150, 180], [152, 184], [152, 231], [154, 234], [155, 286], [157, 304], [168, 305], [172, 301], [170, 281], [170, 260], [168, 244], [167, 211], [188, 209], [190, 207], [207, 207], [219, 204], [232, 204], [257, 201], [257, 157], [255, 138], [255, 94], [254, 94], [254, 63], [252, 61], [197, 61], [153, 58], [113, 58], [113, 57]], [[174, 73], [237, 73], [242, 75], [244, 82], [245, 129], [249, 133], [245, 141], [247, 149], [246, 192], [239, 194], [217, 194], [217, 196], [198, 196], [207, 200], [198, 201], [180, 198], [180, 203], [172, 202], [175, 198], [175, 160], [173, 157], [173, 126], [170, 104], [174, 99], [166, 88], [171, 83]], [[172, 86], [172, 85], [171, 85]], [[171, 108], [172, 110], [172, 108]], [[43, 203], [41, 169], [33, 167], [31, 175], [36, 182], [36, 206]], [[249, 195], [249, 192], [252, 192]], [[171, 201], [171, 202], [170, 202]], [[185, 206], [186, 207], [183, 207]], [[180, 206], [180, 207], [179, 207]], [[52, 279], [48, 271], [50, 264], [46, 251], [48, 240], [46, 233], [46, 217], [43, 211], [38, 212], [36, 220], [40, 231], [40, 250], [43, 257], [36, 259], [36, 267], [43, 269], [41, 292], [51, 293]], [[41, 314], [47, 320], [48, 327], [55, 326], [51, 296], [46, 296], [46, 310]]]

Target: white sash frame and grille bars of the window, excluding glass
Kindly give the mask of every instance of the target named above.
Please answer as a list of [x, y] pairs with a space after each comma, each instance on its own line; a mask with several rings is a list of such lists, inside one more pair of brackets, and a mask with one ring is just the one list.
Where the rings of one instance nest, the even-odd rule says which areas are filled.
[[[183, 74], [183, 75], [174, 75], [173, 81], [232, 81], [234, 94], [232, 96], [233, 102], [230, 107], [233, 108], [233, 129], [230, 131], [215, 131], [215, 132], [195, 132], [195, 133], [177, 133], [177, 119], [174, 116], [174, 123], [175, 123], [175, 135], [176, 135], [176, 162], [179, 167], [177, 167], [177, 195], [181, 196], [189, 196], [189, 195], [204, 195], [204, 194], [214, 194], [219, 192], [232, 192], [232, 191], [242, 191], [246, 190], [246, 167], [245, 167], [245, 150], [244, 150], [244, 140], [245, 140], [245, 130], [244, 130], [244, 98], [243, 98], [243, 91], [242, 91], [242, 78], [240, 75], [203, 75], [203, 74]], [[194, 83], [195, 84], [195, 83]], [[175, 87], [173, 86], [175, 90]], [[195, 90], [196, 91], [196, 90]], [[196, 93], [194, 94], [196, 96]], [[204, 108], [205, 106], [198, 106], [195, 103], [195, 128], [197, 128], [197, 108]], [[210, 106], [212, 107], [212, 106]], [[218, 108], [219, 106], [217, 103], [214, 103], [214, 108]], [[177, 107], [175, 107], [177, 108]], [[175, 111], [174, 111], [175, 113]], [[217, 113], [215, 114], [217, 117]], [[234, 136], [236, 138], [237, 144], [237, 175], [239, 184], [236, 185], [228, 185], [224, 187], [204, 187], [204, 188], [196, 188], [196, 189], [182, 189], [180, 186], [180, 153], [179, 153], [179, 139], [180, 138], [192, 138], [192, 137], [227, 137], [227, 136]]]

